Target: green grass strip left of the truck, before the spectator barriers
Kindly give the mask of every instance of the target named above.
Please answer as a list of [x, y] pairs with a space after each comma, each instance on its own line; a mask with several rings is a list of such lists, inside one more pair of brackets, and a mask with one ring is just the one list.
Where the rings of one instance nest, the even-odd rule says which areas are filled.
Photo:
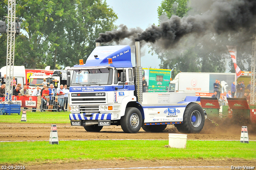
[[58, 123], [70, 123], [69, 120], [70, 112], [26, 112], [27, 122], [21, 122], [21, 116], [18, 114], [11, 115], [0, 115], [1, 123], [49, 123], [49, 124], [58, 124]]

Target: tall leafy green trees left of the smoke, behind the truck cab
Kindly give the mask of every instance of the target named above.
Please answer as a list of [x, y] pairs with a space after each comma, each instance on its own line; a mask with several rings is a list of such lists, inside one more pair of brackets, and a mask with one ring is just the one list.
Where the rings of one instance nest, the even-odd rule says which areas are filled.
[[[0, 16], [6, 16], [7, 0], [1, 5]], [[116, 28], [117, 19], [102, 0], [16, 0], [16, 17], [22, 19], [23, 32], [16, 38], [14, 64], [52, 69], [86, 60], [98, 34]], [[4, 36], [0, 35], [1, 45], [6, 46]], [[6, 48], [0, 50], [2, 60], [6, 61]]]

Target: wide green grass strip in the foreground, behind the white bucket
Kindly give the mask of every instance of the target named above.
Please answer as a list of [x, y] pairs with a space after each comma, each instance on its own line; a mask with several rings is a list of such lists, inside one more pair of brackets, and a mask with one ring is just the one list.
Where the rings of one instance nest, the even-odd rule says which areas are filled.
[[168, 140], [99, 140], [1, 142], [0, 164], [33, 164], [65, 160], [168, 160], [256, 158], [256, 142], [187, 141], [186, 149], [166, 148]]

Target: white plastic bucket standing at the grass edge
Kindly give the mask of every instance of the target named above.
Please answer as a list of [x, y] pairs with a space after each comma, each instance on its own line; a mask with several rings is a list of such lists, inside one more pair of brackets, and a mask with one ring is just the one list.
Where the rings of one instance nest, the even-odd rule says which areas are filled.
[[171, 148], [186, 148], [186, 134], [169, 134], [169, 146]]

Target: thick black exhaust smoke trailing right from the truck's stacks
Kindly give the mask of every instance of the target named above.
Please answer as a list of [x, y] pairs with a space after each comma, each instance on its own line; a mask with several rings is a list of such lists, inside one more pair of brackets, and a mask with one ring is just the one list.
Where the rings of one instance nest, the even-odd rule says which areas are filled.
[[211, 31], [221, 34], [229, 31], [251, 32], [256, 24], [256, 0], [217, 0], [212, 3], [210, 10], [202, 15], [172, 16], [160, 26], [152, 25], [145, 31], [120, 26], [120, 30], [101, 33], [96, 42], [110, 42], [124, 38], [135, 38], [135, 41], [145, 40], [156, 42], [161, 40], [164, 48], [171, 48], [183, 36], [197, 34], [203, 36]]

